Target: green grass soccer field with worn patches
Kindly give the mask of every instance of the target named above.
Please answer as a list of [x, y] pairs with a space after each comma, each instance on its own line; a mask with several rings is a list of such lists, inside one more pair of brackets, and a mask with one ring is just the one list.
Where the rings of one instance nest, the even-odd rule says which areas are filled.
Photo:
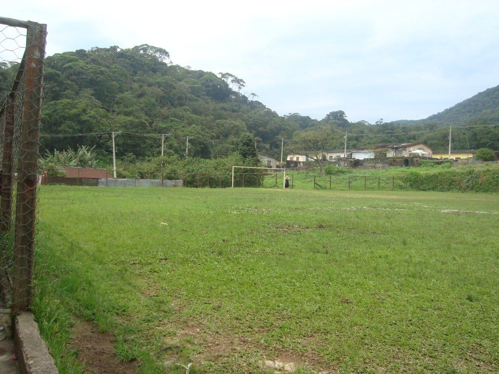
[[64, 348], [78, 319], [141, 373], [499, 372], [497, 194], [39, 196], [33, 308], [61, 374], [81, 370]]

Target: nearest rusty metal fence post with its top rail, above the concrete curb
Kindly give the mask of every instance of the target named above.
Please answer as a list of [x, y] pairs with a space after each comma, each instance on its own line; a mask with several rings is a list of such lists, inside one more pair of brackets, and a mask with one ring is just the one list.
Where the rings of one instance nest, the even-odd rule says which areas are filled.
[[22, 101], [18, 106], [20, 129], [17, 148], [17, 193], [12, 259], [12, 312], [16, 313], [29, 307], [32, 294], [46, 25], [8, 18], [0, 18], [0, 23], [26, 29], [26, 47], [17, 74], [17, 77], [20, 78], [19, 88], [12, 89], [12, 92], [22, 91], [20, 98]]

